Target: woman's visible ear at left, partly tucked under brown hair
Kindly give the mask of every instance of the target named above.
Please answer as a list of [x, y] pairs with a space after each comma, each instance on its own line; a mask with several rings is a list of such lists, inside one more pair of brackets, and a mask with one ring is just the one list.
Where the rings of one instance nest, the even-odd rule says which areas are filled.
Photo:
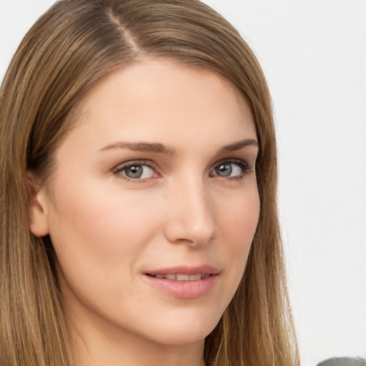
[[36, 237], [44, 237], [49, 234], [45, 194], [31, 172], [26, 173], [26, 191], [29, 200], [29, 229]]

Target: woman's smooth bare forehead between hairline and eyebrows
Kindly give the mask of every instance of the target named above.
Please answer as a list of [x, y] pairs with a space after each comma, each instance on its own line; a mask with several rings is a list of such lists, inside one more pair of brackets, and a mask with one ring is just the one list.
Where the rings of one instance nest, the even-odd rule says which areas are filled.
[[118, 135], [172, 144], [193, 134], [204, 141], [256, 137], [250, 109], [229, 81], [167, 59], [139, 61], [107, 75], [81, 100], [74, 118], [101, 143]]

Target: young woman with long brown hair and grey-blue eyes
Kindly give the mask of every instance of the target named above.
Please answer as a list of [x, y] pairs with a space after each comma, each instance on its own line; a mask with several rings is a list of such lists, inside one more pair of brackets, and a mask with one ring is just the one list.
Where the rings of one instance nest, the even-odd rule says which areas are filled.
[[267, 84], [196, 0], [64, 0], [1, 86], [0, 360], [298, 365]]

